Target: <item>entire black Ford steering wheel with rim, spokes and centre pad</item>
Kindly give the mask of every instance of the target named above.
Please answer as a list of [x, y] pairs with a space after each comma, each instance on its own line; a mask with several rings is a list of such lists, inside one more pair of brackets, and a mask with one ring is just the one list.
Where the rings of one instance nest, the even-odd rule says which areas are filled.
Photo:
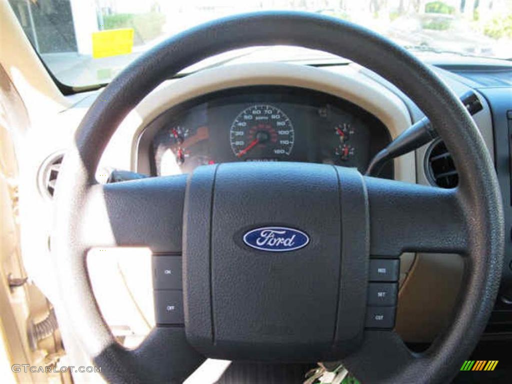
[[[100, 185], [95, 170], [119, 123], [163, 80], [224, 51], [261, 45], [327, 51], [365, 66], [429, 116], [459, 172], [441, 189], [363, 177], [326, 164], [229, 163], [188, 178]], [[128, 66], [84, 116], [63, 161], [52, 239], [62, 302], [112, 382], [180, 382], [205, 357], [335, 361], [362, 382], [447, 382], [472, 352], [501, 277], [503, 211], [492, 160], [456, 95], [393, 42], [342, 20], [299, 12], [227, 17], [169, 38]], [[253, 228], [309, 237], [301, 249], [247, 246]], [[140, 347], [115, 342], [85, 263], [93, 246], [145, 245], [183, 254], [184, 322]], [[371, 257], [459, 253], [465, 283], [450, 325], [422, 353], [393, 329], [365, 328]], [[449, 257], [449, 256], [447, 256]]]

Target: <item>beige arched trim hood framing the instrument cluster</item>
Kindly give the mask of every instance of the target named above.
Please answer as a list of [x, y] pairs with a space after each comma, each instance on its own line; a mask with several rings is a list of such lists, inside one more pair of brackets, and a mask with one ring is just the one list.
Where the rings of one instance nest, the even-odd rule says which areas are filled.
[[[126, 117], [116, 134], [124, 140], [126, 137], [134, 138], [131, 168], [136, 169], [137, 146], [144, 127], [167, 109], [197, 96], [228, 88], [276, 85], [312, 89], [351, 101], [379, 118], [395, 138], [411, 125], [406, 105], [359, 70], [357, 65], [320, 69], [288, 63], [248, 63], [204, 70], [162, 83]], [[128, 136], [130, 131], [132, 136]], [[397, 180], [416, 182], [415, 169], [414, 153], [395, 160]]]

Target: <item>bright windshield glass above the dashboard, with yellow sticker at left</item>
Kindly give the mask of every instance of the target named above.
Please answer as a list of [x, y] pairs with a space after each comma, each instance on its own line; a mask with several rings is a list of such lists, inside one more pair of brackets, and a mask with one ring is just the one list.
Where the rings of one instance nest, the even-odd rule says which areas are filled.
[[[53, 75], [72, 87], [109, 82], [168, 36], [218, 17], [300, 10], [370, 28], [412, 52], [512, 56], [512, 0], [9, 0]], [[230, 52], [217, 61], [325, 60], [304, 49]], [[285, 54], [283, 54], [286, 53]], [[220, 61], [219, 61], [220, 60]], [[339, 60], [339, 59], [338, 59]]]

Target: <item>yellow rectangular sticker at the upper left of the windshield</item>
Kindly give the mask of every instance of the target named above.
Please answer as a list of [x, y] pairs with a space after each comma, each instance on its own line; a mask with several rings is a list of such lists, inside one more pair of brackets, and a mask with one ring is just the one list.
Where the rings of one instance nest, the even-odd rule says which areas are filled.
[[132, 53], [133, 28], [93, 32], [93, 57], [109, 57]]

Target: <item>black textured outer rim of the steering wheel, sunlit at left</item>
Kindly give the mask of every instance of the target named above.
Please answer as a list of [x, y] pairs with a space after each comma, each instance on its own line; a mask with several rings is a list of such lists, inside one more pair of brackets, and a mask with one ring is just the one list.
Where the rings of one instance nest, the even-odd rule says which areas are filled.
[[[160, 82], [203, 58], [258, 45], [296, 45], [351, 59], [394, 83], [431, 119], [449, 148], [459, 171], [454, 192], [464, 212], [467, 234], [467, 290], [453, 324], [432, 347], [407, 357], [403, 367], [383, 371], [382, 377], [361, 373], [362, 381], [441, 382], [458, 370], [472, 351], [496, 298], [503, 258], [503, 211], [492, 160], [471, 116], [456, 95], [423, 63], [393, 42], [342, 20], [299, 12], [263, 12], [227, 17], [169, 38], [127, 67], [102, 92], [83, 118], [62, 164], [57, 186], [56, 231], [52, 239], [57, 276], [66, 315], [80, 329], [84, 349], [112, 381], [181, 380], [201, 361], [184, 345], [163, 345], [161, 334], [134, 351], [115, 343], [92, 293], [84, 256], [82, 219], [96, 184], [100, 156], [123, 118]], [[377, 343], [395, 343], [395, 334], [378, 334]], [[373, 337], [373, 336], [372, 336]], [[168, 343], [167, 343], [168, 344]], [[158, 347], [172, 356], [162, 356]], [[345, 362], [356, 374], [375, 353], [361, 348]], [[413, 356], [413, 355], [411, 355]], [[167, 358], [178, 364], [165, 369]], [[404, 361], [406, 361], [404, 360]], [[178, 367], [178, 368], [177, 368]]]

